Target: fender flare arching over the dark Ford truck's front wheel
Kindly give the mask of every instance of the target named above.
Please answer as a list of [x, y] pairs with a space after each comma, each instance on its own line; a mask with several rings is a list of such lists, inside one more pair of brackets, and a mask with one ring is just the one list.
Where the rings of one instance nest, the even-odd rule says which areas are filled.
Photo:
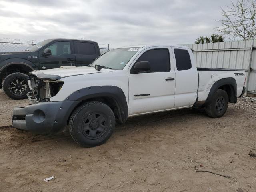
[[3, 66], [0, 68], [0, 72], [4, 70], [6, 67], [13, 64], [20, 64], [20, 65], [27, 66], [31, 69], [31, 71], [38, 70], [38, 67], [34, 63], [30, 62], [29, 60], [22, 59], [22, 58], [11, 58], [11, 59], [4, 60], [1, 63], [1, 65]]

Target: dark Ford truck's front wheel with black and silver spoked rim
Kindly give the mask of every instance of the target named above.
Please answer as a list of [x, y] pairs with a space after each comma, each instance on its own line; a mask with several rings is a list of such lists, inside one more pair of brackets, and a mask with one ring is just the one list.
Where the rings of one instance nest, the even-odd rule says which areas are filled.
[[2, 88], [5, 94], [15, 100], [26, 99], [28, 76], [24, 73], [12, 73], [4, 78]]

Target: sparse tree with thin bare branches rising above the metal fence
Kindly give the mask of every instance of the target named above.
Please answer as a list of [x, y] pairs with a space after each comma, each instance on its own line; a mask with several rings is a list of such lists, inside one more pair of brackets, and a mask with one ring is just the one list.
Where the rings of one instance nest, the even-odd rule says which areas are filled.
[[214, 30], [230, 40], [253, 40], [256, 38], [256, 1], [238, 0], [236, 4], [221, 8], [222, 19], [215, 20], [221, 25]]

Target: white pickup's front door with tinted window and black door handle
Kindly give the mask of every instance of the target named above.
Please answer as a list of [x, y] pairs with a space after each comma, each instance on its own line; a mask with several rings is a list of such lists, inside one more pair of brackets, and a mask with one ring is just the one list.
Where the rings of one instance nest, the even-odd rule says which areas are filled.
[[[134, 74], [134, 64], [150, 62], [151, 70]], [[168, 46], [143, 50], [128, 68], [130, 116], [174, 108], [175, 70]]]

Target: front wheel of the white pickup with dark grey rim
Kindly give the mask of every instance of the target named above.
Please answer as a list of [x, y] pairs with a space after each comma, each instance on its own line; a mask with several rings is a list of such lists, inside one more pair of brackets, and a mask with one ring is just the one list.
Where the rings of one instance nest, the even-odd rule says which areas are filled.
[[102, 102], [86, 102], [71, 115], [69, 132], [73, 140], [83, 147], [105, 143], [115, 128], [115, 116], [109, 106]]

